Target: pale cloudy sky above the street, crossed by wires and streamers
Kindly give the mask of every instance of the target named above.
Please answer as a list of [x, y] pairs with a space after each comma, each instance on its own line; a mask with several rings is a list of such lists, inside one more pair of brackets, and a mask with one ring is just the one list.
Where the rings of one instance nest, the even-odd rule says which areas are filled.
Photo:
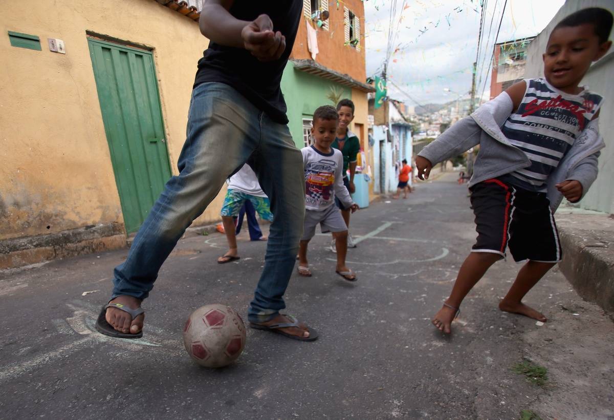
[[[381, 74], [393, 1], [364, 2], [367, 76]], [[481, 48], [483, 53], [478, 60], [478, 81], [481, 78], [481, 82], [476, 96], [482, 93], [484, 86], [484, 96], [488, 96], [490, 73], [487, 68], [504, 2], [485, 2], [483, 42], [486, 49]], [[388, 84], [389, 95], [408, 105], [416, 105], [415, 102], [443, 103], [457, 98], [453, 92], [467, 93], [471, 89], [477, 52], [480, 0], [397, 0], [396, 3], [393, 26], [396, 52], [390, 58], [388, 76], [415, 101], [392, 83]], [[563, 3], [564, 0], [507, 0], [498, 42], [538, 34]]]

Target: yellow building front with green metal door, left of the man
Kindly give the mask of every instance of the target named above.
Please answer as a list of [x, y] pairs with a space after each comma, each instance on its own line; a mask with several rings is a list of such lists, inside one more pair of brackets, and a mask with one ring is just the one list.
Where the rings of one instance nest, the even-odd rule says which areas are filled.
[[[126, 246], [178, 173], [196, 62], [208, 46], [198, 6], [4, 4], [0, 268]], [[221, 204], [195, 224], [217, 220]]]

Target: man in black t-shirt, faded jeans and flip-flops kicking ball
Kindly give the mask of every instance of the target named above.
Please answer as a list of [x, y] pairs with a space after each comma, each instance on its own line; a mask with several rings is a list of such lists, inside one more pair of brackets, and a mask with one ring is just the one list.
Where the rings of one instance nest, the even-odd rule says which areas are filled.
[[279, 87], [302, 12], [300, 0], [204, 2], [200, 30], [211, 41], [198, 61], [179, 175], [166, 183], [126, 261], [115, 267], [111, 301], [96, 321], [101, 333], [142, 336], [141, 302], [160, 266], [224, 181], [247, 162], [274, 216], [248, 320], [252, 328], [293, 339], [317, 338], [313, 328], [279, 314], [305, 215], [303, 159]]

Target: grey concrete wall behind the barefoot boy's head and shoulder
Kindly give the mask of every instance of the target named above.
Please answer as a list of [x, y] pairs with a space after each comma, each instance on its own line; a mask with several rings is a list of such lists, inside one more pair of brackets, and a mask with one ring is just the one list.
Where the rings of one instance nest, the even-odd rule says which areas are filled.
[[[542, 54], [546, 50], [548, 36], [558, 22], [577, 10], [586, 7], [604, 7], [614, 11], [614, 0], [567, 0], [548, 26], [535, 38], [527, 49], [527, 65], [524, 77], [543, 77]], [[612, 34], [610, 34], [612, 39]], [[580, 207], [605, 213], [614, 213], [614, 49], [594, 63], [582, 83], [604, 97], [600, 111], [599, 131], [605, 140], [606, 148], [599, 157], [599, 177]]]

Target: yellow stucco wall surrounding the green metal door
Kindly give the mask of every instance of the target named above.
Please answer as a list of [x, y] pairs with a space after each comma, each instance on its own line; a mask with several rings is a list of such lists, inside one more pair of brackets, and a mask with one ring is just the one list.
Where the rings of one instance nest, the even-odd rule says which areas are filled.
[[[6, 2], [0, 14], [0, 240], [122, 223], [85, 31], [153, 48], [173, 173], [185, 140], [198, 24], [153, 0]], [[10, 46], [7, 31], [41, 38]], [[66, 55], [49, 51], [63, 39]], [[222, 197], [196, 224], [219, 219]]]

